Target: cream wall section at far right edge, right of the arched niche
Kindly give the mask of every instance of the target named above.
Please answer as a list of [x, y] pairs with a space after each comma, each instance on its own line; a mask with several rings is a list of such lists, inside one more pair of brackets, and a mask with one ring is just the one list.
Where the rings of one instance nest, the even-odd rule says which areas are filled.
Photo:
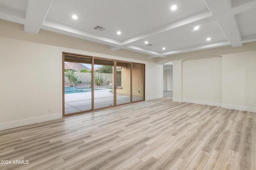
[[256, 112], [256, 51], [222, 56], [222, 107]]

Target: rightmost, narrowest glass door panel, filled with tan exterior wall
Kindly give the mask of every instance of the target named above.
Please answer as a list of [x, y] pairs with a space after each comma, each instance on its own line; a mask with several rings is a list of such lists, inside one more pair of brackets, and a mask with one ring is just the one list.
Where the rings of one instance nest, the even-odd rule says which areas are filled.
[[132, 102], [144, 100], [144, 64], [132, 63]]

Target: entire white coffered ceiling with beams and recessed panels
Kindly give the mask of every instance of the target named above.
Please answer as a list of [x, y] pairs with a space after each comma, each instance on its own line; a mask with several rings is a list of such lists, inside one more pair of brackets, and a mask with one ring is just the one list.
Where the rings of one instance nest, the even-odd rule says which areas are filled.
[[0, 0], [0, 19], [149, 58], [256, 41], [256, 0]]

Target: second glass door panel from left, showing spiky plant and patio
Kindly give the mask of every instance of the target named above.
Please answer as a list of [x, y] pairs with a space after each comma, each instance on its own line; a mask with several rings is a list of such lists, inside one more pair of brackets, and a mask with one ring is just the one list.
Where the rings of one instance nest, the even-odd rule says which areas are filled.
[[114, 106], [114, 61], [94, 59], [94, 109]]

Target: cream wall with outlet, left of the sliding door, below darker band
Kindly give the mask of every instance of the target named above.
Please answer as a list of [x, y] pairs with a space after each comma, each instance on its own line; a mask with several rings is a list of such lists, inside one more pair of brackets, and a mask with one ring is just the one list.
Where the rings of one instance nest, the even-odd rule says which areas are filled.
[[60, 48], [0, 37], [0, 51], [0, 130], [60, 118]]

